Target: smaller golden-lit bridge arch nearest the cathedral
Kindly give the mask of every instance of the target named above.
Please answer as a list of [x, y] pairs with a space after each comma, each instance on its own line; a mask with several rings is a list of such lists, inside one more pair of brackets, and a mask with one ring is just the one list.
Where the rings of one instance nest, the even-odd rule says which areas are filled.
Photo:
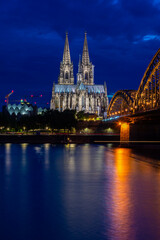
[[133, 111], [135, 90], [119, 90], [111, 99], [108, 106], [107, 117], [128, 115]]

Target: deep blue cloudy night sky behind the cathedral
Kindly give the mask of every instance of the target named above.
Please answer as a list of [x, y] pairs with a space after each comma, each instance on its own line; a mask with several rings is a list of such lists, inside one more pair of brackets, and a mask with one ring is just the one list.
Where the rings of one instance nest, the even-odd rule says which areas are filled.
[[0, 101], [43, 94], [58, 81], [68, 32], [74, 76], [87, 31], [95, 83], [137, 89], [160, 48], [160, 0], [1, 0]]

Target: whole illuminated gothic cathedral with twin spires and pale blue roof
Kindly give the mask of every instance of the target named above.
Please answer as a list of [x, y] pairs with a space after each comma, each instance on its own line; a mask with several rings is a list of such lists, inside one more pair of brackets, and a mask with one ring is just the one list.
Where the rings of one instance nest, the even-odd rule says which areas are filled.
[[53, 83], [50, 109], [64, 111], [72, 109], [103, 115], [107, 111], [106, 83], [94, 84], [94, 65], [90, 62], [87, 34], [85, 33], [82, 59], [79, 59], [77, 83], [74, 83], [68, 34], [66, 34], [63, 60], [60, 63], [58, 84]]

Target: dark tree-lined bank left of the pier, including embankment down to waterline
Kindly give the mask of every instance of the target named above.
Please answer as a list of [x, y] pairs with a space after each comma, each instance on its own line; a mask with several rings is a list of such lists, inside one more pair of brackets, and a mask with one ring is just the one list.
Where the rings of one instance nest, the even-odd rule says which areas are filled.
[[0, 143], [119, 142], [119, 126], [106, 124], [96, 114], [47, 110], [38, 115], [0, 113]]

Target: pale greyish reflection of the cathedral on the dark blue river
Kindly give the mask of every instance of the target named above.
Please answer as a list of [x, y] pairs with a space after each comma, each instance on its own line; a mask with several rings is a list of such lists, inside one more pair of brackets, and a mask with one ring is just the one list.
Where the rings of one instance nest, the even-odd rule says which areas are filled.
[[77, 146], [73, 151], [67, 151], [64, 213], [75, 239], [86, 239], [85, 235], [88, 233], [91, 235], [89, 239], [97, 239], [98, 231], [95, 234], [91, 229], [99, 221], [104, 150], [104, 146], [91, 148], [89, 144], [85, 144]]

